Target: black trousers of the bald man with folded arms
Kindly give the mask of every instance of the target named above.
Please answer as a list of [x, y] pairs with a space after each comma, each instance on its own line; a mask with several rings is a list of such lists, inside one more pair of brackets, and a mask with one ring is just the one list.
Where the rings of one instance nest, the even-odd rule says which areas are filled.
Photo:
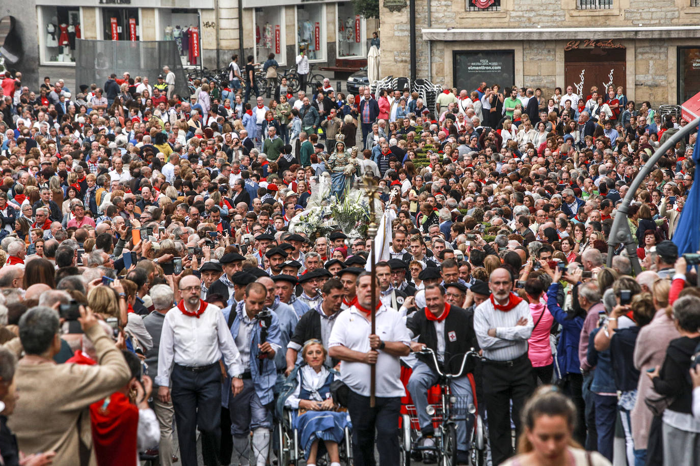
[[512, 417], [515, 424], [517, 438], [521, 430], [521, 409], [534, 388], [532, 364], [527, 353], [514, 359], [512, 364], [484, 361], [484, 398], [488, 413], [493, 466], [498, 466], [513, 456], [510, 419]]

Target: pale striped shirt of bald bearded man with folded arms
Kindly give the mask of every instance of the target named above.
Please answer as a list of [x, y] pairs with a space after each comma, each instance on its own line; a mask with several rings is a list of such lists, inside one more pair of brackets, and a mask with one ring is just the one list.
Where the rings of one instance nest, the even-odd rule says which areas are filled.
[[[518, 319], [525, 317], [525, 326], [516, 326]], [[481, 303], [474, 312], [474, 331], [479, 347], [484, 350], [484, 358], [492, 361], [510, 361], [527, 353], [527, 340], [532, 334], [534, 323], [530, 306], [522, 300], [508, 312], [493, 308], [491, 300]], [[489, 336], [489, 328], [496, 328], [496, 336]]]

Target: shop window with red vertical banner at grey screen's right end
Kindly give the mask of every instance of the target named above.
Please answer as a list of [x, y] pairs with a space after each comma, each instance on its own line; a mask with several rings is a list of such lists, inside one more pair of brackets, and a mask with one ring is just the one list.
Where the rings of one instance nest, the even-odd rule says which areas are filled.
[[197, 10], [160, 8], [158, 12], [163, 28], [160, 32], [162, 40], [175, 41], [183, 66], [199, 64], [202, 35], [197, 27], [200, 24], [200, 14]]

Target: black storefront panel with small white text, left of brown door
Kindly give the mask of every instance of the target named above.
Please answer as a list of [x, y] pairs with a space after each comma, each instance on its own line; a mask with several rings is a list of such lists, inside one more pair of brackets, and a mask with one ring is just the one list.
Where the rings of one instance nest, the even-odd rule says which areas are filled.
[[454, 86], [471, 92], [482, 82], [498, 82], [503, 87], [515, 83], [514, 50], [458, 50], [453, 59]]

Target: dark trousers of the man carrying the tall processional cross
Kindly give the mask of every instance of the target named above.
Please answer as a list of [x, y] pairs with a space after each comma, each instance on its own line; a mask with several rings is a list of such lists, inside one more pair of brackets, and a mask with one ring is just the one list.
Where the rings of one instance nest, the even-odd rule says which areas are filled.
[[352, 449], [356, 466], [374, 466], [374, 430], [380, 465], [399, 464], [398, 416], [401, 398], [376, 398], [370, 408], [370, 397], [350, 391], [348, 412], [352, 421]]

